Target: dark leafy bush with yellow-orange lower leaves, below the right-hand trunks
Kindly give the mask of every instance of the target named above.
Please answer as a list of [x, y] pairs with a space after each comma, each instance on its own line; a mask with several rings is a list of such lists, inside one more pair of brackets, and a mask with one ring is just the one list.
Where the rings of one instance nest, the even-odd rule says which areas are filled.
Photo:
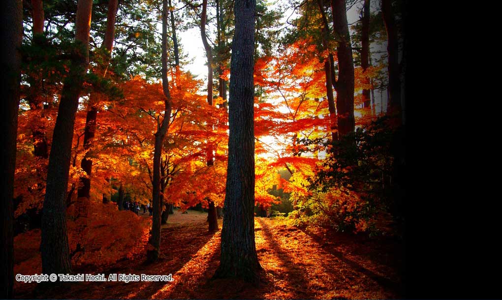
[[[374, 235], [386, 234], [389, 224], [401, 222], [392, 178], [395, 134], [396, 128], [382, 117], [339, 141], [324, 141], [317, 150], [326, 151], [327, 156], [308, 179], [308, 195], [292, 194], [291, 200], [297, 203], [289, 214], [292, 223]], [[301, 142], [322, 144], [320, 140]]]

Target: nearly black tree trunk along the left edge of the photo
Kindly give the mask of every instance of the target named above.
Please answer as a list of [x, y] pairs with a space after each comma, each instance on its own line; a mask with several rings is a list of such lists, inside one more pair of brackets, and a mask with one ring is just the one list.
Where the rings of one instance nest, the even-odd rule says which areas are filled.
[[14, 172], [16, 168], [16, 138], [18, 133], [18, 107], [21, 82], [21, 54], [19, 47], [23, 37], [23, 3], [21, 0], [4, 2], [0, 13], [2, 23], [2, 111], [4, 117], [0, 130], [2, 157], [0, 158], [0, 172], [2, 184], [0, 197], [0, 297], [13, 298], [14, 286]]

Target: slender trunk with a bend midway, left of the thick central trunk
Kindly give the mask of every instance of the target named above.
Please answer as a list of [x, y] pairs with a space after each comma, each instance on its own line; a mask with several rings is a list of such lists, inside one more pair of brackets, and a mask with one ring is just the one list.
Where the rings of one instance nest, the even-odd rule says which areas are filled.
[[[164, 118], [157, 125], [155, 132], [155, 148], [154, 148], [154, 167], [152, 176], [152, 236], [149, 241], [149, 249], [147, 251], [147, 260], [150, 262], [156, 261], [160, 253], [160, 229], [161, 229], [161, 201], [160, 201], [160, 165], [162, 158], [162, 144], [166, 136], [169, 120], [171, 119], [171, 94], [169, 92], [169, 82], [167, 79], [167, 12], [168, 0], [162, 1], [162, 89], [166, 99], [164, 100]], [[160, 116], [159, 116], [160, 118]]]

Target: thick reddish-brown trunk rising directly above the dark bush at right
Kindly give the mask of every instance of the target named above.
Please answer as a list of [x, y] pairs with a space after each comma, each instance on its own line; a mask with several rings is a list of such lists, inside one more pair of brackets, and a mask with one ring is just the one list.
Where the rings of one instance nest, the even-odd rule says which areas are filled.
[[336, 80], [336, 113], [338, 135], [353, 132], [354, 119], [354, 61], [348, 31], [345, 0], [331, 0], [333, 31], [337, 41], [338, 80]]

